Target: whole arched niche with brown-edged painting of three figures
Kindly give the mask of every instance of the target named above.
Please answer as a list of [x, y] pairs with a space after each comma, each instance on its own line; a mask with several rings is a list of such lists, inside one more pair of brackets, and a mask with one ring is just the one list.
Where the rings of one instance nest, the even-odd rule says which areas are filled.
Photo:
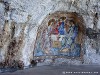
[[37, 31], [34, 60], [46, 58], [82, 59], [85, 26], [75, 12], [57, 11], [43, 20]]

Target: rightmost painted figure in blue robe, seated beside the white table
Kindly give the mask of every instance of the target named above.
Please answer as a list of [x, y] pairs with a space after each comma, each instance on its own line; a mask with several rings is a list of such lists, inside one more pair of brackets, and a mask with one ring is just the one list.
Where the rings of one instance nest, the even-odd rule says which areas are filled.
[[71, 48], [72, 43], [75, 42], [75, 38], [78, 35], [78, 27], [74, 24], [73, 20], [67, 22], [69, 26], [68, 31], [66, 31], [66, 45]]

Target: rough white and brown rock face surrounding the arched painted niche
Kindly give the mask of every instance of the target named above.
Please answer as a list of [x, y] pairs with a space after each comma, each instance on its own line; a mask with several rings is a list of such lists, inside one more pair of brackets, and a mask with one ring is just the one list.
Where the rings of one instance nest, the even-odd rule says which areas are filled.
[[100, 0], [0, 0], [0, 62], [9, 66], [22, 61], [29, 66], [37, 29], [48, 14], [56, 11], [83, 17], [83, 63], [100, 64]]

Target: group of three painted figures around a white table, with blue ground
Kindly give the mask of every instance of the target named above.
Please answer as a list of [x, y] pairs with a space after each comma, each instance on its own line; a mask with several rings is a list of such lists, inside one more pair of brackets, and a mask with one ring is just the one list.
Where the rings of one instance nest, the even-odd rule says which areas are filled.
[[34, 56], [79, 57], [81, 45], [75, 42], [78, 32], [73, 18], [50, 19], [47, 28], [38, 32]]

